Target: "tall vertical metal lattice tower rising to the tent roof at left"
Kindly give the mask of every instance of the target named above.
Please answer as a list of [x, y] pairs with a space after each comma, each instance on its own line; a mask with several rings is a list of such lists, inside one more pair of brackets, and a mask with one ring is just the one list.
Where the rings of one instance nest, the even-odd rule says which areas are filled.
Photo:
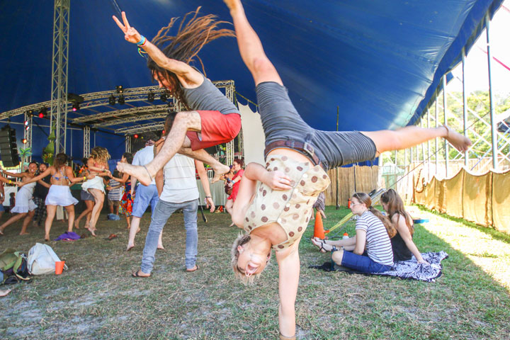
[[69, 6], [70, 0], [55, 0], [53, 12], [50, 126], [55, 128], [55, 154], [66, 152]]

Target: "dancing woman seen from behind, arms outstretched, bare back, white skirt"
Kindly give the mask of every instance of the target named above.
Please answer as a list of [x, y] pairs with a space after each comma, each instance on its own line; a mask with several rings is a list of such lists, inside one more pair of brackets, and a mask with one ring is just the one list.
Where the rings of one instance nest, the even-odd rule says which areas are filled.
[[[30, 179], [22, 183], [22, 186], [28, 185], [29, 183], [35, 183], [40, 179], [45, 178], [47, 175], [51, 175], [51, 186], [50, 191], [46, 196], [45, 204], [47, 209], [47, 217], [45, 222], [45, 241], [50, 241], [50, 229], [52, 227], [53, 219], [55, 218], [55, 212], [57, 212], [57, 205], [60, 205], [67, 210], [69, 219], [67, 220], [67, 231], [72, 232], [74, 225], [74, 205], [78, 203], [78, 200], [71, 194], [69, 183], [86, 181], [87, 177], [74, 177], [71, 166], [67, 166], [67, 154], [60, 153], [55, 156], [55, 162], [52, 166], [46, 169], [39, 176]], [[91, 175], [94, 176], [94, 175]]]

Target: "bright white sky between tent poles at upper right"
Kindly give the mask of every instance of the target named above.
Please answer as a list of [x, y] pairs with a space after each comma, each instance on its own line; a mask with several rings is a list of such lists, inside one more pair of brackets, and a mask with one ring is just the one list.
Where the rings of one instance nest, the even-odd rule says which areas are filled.
[[[493, 58], [497, 58], [510, 68], [510, 0], [505, 0], [502, 7], [495, 13], [489, 26], [490, 51]], [[466, 91], [489, 89], [487, 68], [487, 33], [484, 30], [466, 57], [465, 82]], [[496, 60], [492, 60], [492, 89], [495, 93], [510, 96], [510, 70], [503, 67]], [[459, 64], [453, 69], [453, 76], [462, 79], [462, 67]], [[462, 91], [459, 80], [450, 81], [448, 91]]]

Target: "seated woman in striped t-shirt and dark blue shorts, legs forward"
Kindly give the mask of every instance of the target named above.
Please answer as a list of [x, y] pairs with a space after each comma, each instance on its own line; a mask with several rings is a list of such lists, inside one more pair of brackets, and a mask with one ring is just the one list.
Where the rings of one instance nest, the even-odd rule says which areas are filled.
[[339, 266], [363, 273], [390, 270], [393, 266], [393, 251], [387, 230], [395, 232], [390, 220], [372, 207], [372, 200], [366, 193], [355, 193], [352, 196], [351, 211], [359, 216], [356, 220], [356, 236], [338, 241], [315, 237], [312, 243], [322, 252], [332, 251], [331, 259]]

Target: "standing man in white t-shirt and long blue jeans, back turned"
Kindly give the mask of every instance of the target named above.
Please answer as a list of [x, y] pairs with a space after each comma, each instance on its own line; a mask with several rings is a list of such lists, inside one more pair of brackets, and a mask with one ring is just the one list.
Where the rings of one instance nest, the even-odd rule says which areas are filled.
[[196, 185], [196, 171], [202, 182], [205, 193], [205, 203], [210, 211], [215, 210], [212, 202], [207, 171], [202, 162], [193, 160], [181, 154], [170, 159], [156, 175], [156, 186], [160, 193], [159, 202], [152, 213], [149, 232], [145, 239], [142, 265], [140, 270], [132, 273], [135, 277], [148, 277], [154, 265], [159, 235], [169, 217], [179, 209], [183, 210], [184, 227], [186, 228], [186, 271], [198, 269], [196, 264], [198, 232], [197, 211], [199, 193]]

